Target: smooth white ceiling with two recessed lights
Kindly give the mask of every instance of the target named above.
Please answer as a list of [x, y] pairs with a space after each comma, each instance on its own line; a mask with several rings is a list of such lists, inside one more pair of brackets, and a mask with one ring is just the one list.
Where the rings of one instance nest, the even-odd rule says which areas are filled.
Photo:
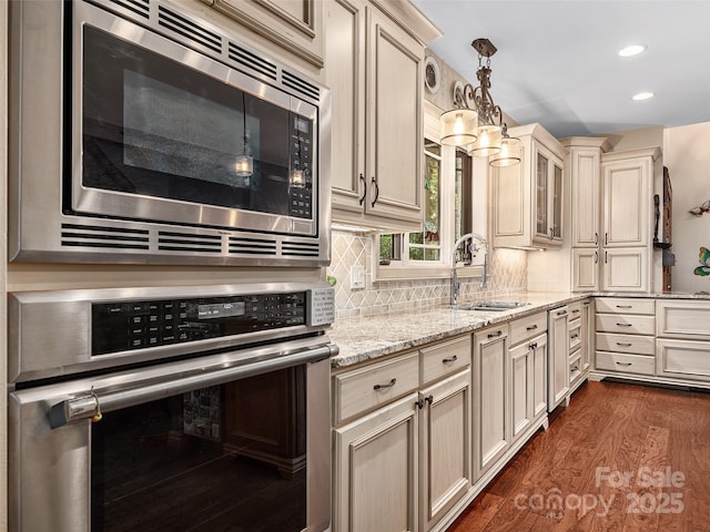
[[[518, 124], [561, 139], [710, 121], [708, 0], [412, 1], [444, 33], [432, 51], [474, 86], [470, 43], [495, 44], [490, 91]], [[648, 49], [618, 57], [633, 43]], [[641, 91], [655, 96], [632, 101]]]

